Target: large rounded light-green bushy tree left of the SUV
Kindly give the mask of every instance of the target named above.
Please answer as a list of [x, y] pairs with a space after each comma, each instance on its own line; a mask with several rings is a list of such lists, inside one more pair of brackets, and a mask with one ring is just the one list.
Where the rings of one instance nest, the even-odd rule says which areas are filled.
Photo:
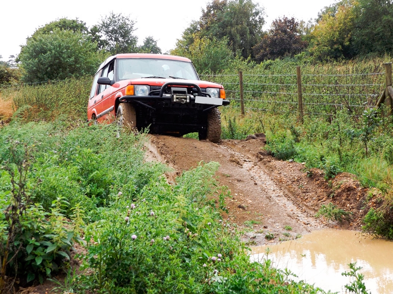
[[96, 45], [88, 35], [60, 29], [29, 38], [18, 59], [25, 82], [94, 74], [100, 62]]

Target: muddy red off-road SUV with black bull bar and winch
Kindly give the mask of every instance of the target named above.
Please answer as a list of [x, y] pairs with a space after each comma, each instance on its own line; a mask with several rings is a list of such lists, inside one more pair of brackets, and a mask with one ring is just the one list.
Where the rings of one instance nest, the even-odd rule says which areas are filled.
[[89, 120], [112, 121], [151, 133], [218, 143], [218, 106], [224, 87], [201, 81], [190, 59], [162, 54], [117, 54], [98, 68], [87, 107]]

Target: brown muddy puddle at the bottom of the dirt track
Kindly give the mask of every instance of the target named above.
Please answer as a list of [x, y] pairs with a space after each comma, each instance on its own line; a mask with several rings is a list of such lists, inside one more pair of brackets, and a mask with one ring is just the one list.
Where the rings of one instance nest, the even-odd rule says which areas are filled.
[[[268, 249], [268, 253], [267, 252]], [[366, 237], [360, 232], [326, 229], [314, 231], [297, 240], [278, 245], [252, 247], [251, 259], [270, 259], [272, 266], [288, 269], [304, 280], [325, 291], [345, 293], [344, 285], [351, 277], [348, 264], [362, 267], [365, 286], [372, 294], [393, 293], [393, 242]]]

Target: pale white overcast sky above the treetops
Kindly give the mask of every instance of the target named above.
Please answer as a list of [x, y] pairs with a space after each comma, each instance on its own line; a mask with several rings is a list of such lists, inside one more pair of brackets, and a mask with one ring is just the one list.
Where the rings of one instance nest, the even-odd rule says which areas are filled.
[[[273, 20], [295, 17], [297, 20], [315, 19], [318, 12], [335, 0], [253, 0], [265, 9], [268, 29]], [[45, 24], [59, 18], [84, 21], [88, 27], [111, 11], [130, 16], [137, 22], [135, 34], [139, 44], [147, 36], [157, 40], [166, 52], [173, 49], [183, 30], [201, 15], [201, 9], [211, 0], [3, 0], [0, 2], [0, 55], [2, 60], [17, 55], [26, 38]]]

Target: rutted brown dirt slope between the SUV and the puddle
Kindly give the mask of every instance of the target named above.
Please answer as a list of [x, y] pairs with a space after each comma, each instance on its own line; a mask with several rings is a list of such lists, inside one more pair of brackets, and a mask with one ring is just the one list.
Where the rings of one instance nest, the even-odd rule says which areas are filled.
[[[201, 161], [219, 162], [218, 180], [232, 195], [226, 199], [228, 213], [223, 217], [247, 228], [243, 238], [251, 245], [295, 239], [327, 226], [360, 228], [367, 210], [363, 207], [366, 190], [353, 175], [342, 173], [326, 181], [322, 171], [313, 169], [309, 176], [303, 164], [269, 155], [263, 148], [265, 143], [263, 134], [242, 141], [223, 140], [220, 144], [151, 135], [147, 157], [171, 166], [174, 172], [168, 174], [170, 180]], [[321, 205], [329, 202], [352, 212], [352, 220], [337, 224], [316, 219], [314, 215]]]

